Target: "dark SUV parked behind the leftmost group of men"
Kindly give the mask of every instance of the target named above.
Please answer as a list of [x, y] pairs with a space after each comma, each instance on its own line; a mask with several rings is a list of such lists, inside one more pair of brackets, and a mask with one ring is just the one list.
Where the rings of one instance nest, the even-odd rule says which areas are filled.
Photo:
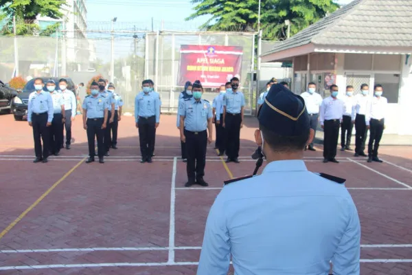
[[[23, 116], [27, 115], [27, 107], [29, 103], [29, 96], [30, 94], [34, 91], [34, 80], [36, 78], [33, 78], [29, 82], [26, 83], [25, 87], [23, 88], [23, 91], [17, 95], [14, 100], [12, 101], [12, 112], [14, 114], [14, 119], [15, 120], [23, 120]], [[47, 83], [47, 80], [54, 80], [56, 82], [56, 89], [58, 89], [58, 80], [61, 78], [48, 78], [48, 77], [42, 77], [43, 83]], [[71, 78], [65, 78], [67, 80], [67, 89], [70, 91], [74, 91], [74, 83]], [[43, 87], [44, 91], [47, 91], [46, 89], [46, 84], [45, 87]]]

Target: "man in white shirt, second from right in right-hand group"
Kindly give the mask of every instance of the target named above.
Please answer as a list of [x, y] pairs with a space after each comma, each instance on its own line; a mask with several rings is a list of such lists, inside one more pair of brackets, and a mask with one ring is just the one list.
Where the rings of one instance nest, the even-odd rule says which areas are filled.
[[369, 104], [369, 86], [367, 84], [361, 85], [361, 94], [356, 96], [355, 104], [355, 157], [366, 157], [365, 144], [367, 137], [366, 114], [367, 105]]

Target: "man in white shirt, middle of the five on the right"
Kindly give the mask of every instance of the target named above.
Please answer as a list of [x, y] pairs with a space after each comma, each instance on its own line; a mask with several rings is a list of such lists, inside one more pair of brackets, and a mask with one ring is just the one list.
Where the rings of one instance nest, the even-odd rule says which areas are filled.
[[355, 123], [355, 97], [354, 97], [354, 87], [346, 87], [346, 95], [342, 98], [345, 104], [345, 111], [343, 111], [343, 121], [341, 130], [341, 151], [351, 151], [350, 139], [352, 138], [352, 129]]

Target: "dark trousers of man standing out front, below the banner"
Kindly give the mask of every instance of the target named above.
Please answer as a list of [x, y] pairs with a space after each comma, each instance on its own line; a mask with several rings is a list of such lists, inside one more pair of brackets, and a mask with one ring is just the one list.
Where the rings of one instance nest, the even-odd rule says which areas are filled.
[[192, 132], [185, 130], [187, 153], [187, 179], [203, 179], [206, 166], [207, 131]]

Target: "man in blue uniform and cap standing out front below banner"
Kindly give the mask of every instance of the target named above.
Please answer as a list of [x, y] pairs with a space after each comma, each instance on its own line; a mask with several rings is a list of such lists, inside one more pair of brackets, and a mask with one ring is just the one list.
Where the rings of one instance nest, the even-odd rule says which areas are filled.
[[[208, 186], [205, 176], [207, 143], [211, 143], [213, 126], [209, 101], [201, 99], [203, 87], [199, 80], [193, 83], [193, 98], [185, 100], [179, 109], [181, 141], [186, 143], [187, 179], [185, 186]], [[209, 135], [207, 135], [207, 130]], [[196, 180], [196, 181], [195, 181]]]

